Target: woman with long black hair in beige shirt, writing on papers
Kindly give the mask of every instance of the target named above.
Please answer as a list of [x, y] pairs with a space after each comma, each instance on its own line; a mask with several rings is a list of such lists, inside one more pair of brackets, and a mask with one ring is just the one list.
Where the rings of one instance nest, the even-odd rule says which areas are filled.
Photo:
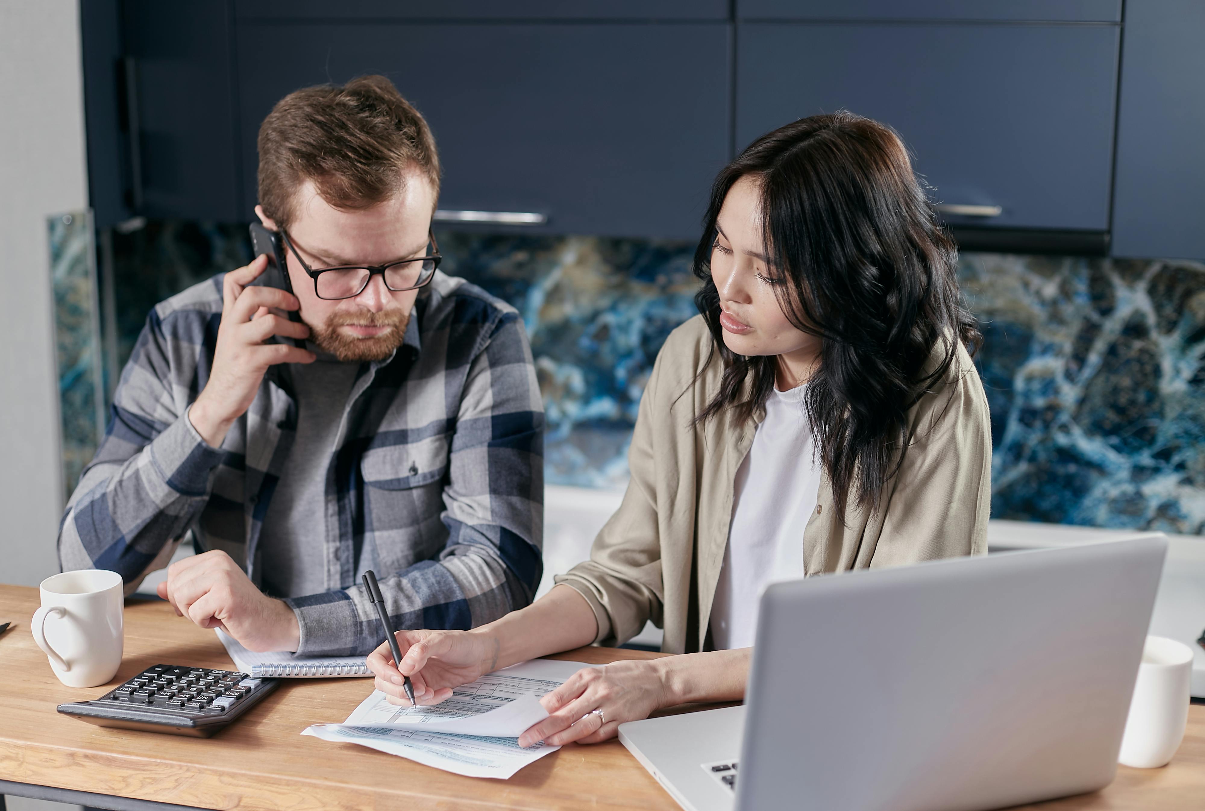
[[[652, 619], [683, 656], [578, 671], [521, 737], [562, 745], [745, 693], [771, 578], [982, 554], [987, 400], [956, 253], [904, 145], [840, 112], [764, 135], [716, 178], [695, 253], [700, 316], [658, 354], [631, 482], [590, 559], [469, 631], [399, 631], [376, 687], [434, 704], [498, 668]], [[839, 666], [839, 665], [837, 665]]]

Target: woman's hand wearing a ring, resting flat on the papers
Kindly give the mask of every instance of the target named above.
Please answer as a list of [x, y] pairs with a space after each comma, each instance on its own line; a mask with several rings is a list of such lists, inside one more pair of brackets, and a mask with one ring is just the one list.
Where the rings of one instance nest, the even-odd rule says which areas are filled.
[[615, 737], [621, 723], [647, 718], [671, 701], [665, 670], [654, 660], [582, 668], [540, 703], [548, 717], [519, 735], [519, 746], [598, 744]]

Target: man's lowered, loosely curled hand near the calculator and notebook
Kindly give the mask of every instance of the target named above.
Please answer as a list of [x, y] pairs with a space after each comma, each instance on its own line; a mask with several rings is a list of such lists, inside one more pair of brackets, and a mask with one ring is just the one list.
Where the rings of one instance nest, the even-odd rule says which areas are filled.
[[221, 628], [248, 651], [296, 651], [296, 615], [255, 588], [229, 554], [213, 550], [167, 566], [159, 597], [201, 628]]

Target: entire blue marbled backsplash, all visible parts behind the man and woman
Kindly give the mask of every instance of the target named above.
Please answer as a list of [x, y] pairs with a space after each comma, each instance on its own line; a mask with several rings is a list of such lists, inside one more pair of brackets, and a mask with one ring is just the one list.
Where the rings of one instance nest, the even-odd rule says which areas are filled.
[[[245, 225], [114, 235], [119, 357], [155, 301], [249, 258]], [[694, 246], [437, 233], [445, 269], [527, 323], [549, 483], [618, 487], [640, 394], [695, 315]], [[969, 253], [997, 518], [1205, 531], [1205, 265]], [[116, 378], [116, 376], [114, 376]]]

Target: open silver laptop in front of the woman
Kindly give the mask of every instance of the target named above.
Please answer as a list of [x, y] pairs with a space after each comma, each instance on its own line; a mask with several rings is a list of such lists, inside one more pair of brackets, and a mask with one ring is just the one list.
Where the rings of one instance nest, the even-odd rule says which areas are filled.
[[1168, 541], [771, 584], [745, 706], [619, 725], [689, 811], [976, 811], [1109, 784]]

